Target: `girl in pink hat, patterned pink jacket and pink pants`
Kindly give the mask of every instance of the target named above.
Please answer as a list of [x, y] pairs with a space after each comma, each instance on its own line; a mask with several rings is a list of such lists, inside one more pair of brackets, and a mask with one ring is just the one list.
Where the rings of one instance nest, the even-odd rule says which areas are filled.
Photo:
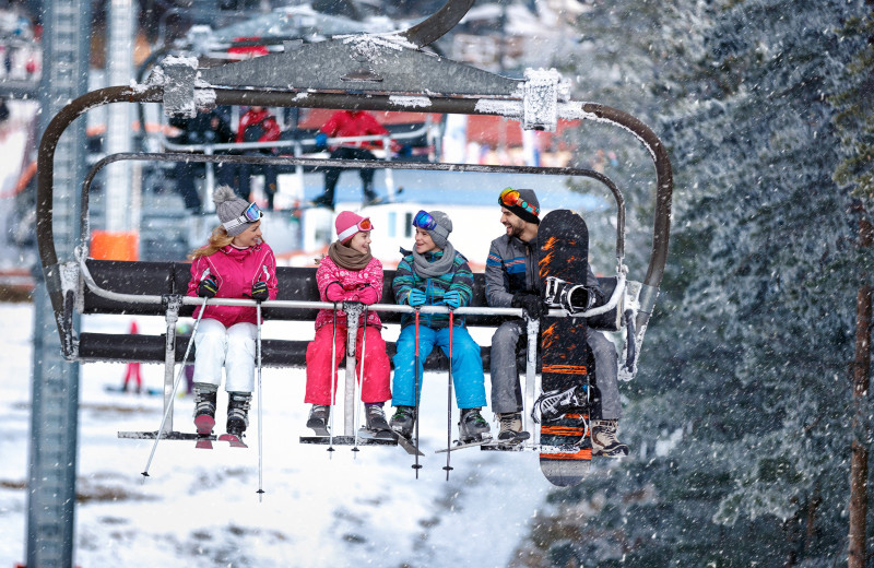
[[[334, 222], [338, 239], [319, 261], [316, 281], [322, 301], [361, 301], [376, 304], [382, 297], [382, 263], [370, 255], [369, 217], [343, 211]], [[316, 317], [316, 339], [307, 347], [307, 391], [304, 402], [312, 404], [307, 427], [320, 436], [328, 435], [331, 411], [331, 384], [336, 390], [336, 368], [346, 348], [346, 313], [338, 308], [334, 333], [333, 310], [323, 309]], [[364, 330], [367, 336], [364, 338]], [[367, 312], [358, 321], [355, 341], [356, 372], [362, 376], [362, 343], [364, 343], [364, 378], [362, 400], [365, 403], [367, 429], [390, 437], [382, 404], [391, 399], [389, 388], [389, 357], [382, 339], [382, 322], [376, 311]], [[336, 338], [331, 348], [332, 338]], [[331, 360], [333, 353], [334, 359]], [[334, 394], [335, 397], [335, 394]]]

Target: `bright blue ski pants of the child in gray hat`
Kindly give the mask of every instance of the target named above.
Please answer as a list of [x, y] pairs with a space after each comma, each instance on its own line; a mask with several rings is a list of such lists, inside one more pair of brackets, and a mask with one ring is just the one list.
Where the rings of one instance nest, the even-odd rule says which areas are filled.
[[[432, 350], [438, 346], [449, 356], [449, 328], [418, 327], [418, 393], [422, 394], [423, 365]], [[392, 406], [415, 406], [415, 326], [406, 326], [398, 338], [394, 362], [394, 380], [391, 384]], [[485, 376], [480, 345], [468, 330], [456, 326], [452, 329], [452, 382], [459, 409], [476, 409], [486, 405]]]

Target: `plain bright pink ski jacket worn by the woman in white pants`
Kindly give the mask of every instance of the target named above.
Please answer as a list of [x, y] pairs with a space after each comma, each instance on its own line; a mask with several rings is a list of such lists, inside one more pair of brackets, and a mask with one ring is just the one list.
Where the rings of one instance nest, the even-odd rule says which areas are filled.
[[[276, 299], [276, 258], [265, 244], [255, 245], [247, 249], [226, 246], [209, 257], [199, 257], [191, 263], [191, 280], [188, 282], [188, 296], [198, 295], [198, 285], [209, 270], [218, 284], [216, 298], [251, 298], [252, 284], [267, 282], [268, 296]], [[194, 318], [200, 307], [194, 310]], [[222, 322], [226, 328], [234, 323], [256, 323], [256, 310], [248, 306], [210, 306], [206, 304], [204, 318]]]

